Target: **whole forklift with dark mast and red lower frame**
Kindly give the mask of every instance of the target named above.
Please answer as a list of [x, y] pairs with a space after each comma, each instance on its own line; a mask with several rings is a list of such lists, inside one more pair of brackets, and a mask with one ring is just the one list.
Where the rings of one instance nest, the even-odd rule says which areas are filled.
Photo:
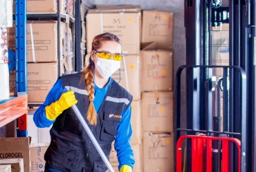
[[176, 171], [256, 172], [256, 0], [185, 0], [184, 6]]

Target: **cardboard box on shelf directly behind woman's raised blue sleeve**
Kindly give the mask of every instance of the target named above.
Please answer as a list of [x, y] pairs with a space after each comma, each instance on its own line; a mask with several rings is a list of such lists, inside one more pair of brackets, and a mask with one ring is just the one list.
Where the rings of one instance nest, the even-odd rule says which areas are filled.
[[57, 63], [28, 63], [28, 102], [44, 102], [56, 80]]

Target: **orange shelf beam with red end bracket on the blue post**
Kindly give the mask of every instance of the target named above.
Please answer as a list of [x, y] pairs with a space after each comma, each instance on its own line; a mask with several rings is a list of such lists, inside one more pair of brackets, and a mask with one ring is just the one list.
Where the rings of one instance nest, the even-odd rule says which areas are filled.
[[17, 97], [0, 101], [0, 127], [22, 116], [18, 122], [19, 129], [27, 130], [27, 114], [28, 94], [26, 93], [19, 93]]

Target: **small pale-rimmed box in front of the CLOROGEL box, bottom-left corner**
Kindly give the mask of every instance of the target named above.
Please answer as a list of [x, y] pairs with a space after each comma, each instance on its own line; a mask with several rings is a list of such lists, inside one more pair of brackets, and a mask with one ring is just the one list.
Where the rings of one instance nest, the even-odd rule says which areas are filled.
[[12, 172], [24, 172], [23, 158], [0, 159], [0, 164], [10, 164]]

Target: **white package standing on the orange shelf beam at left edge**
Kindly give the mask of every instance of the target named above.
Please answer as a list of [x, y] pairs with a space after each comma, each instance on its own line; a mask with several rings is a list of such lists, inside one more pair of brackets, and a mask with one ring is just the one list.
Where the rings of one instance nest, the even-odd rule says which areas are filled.
[[0, 78], [0, 100], [5, 100], [10, 97], [8, 63], [0, 64]]

